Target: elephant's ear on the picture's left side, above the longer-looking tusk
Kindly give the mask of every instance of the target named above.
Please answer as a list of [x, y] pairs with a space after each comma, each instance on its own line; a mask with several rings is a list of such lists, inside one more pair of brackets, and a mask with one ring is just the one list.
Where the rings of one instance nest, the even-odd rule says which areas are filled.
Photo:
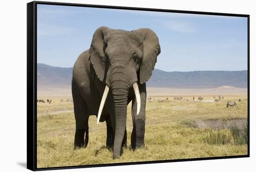
[[103, 81], [105, 76], [105, 47], [104, 37], [108, 35], [113, 29], [102, 26], [98, 28], [93, 35], [92, 43], [90, 46], [90, 61], [93, 65], [96, 75]]

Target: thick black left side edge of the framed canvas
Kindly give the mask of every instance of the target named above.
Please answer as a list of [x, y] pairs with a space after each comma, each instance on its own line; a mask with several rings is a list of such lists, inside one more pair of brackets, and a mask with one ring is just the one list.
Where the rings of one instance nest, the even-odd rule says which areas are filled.
[[27, 169], [36, 170], [36, 4], [27, 3]]

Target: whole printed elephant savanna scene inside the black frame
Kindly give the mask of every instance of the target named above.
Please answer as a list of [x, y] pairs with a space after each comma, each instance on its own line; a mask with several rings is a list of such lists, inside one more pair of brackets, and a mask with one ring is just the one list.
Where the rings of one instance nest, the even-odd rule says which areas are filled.
[[37, 168], [248, 155], [248, 18], [37, 4]]

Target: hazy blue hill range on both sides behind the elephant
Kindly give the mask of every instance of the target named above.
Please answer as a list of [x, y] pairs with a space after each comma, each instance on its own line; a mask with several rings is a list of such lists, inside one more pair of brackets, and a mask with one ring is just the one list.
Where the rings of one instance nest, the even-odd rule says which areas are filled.
[[[72, 68], [37, 64], [38, 85], [70, 85], [71, 80]], [[166, 72], [155, 69], [147, 82], [147, 86], [200, 89], [229, 85], [237, 88], [247, 88], [247, 80], [247, 70]]]

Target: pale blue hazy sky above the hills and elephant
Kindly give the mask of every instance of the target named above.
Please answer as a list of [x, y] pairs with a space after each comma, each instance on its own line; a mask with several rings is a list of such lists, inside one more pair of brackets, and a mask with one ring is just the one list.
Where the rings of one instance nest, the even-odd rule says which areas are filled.
[[38, 5], [38, 63], [73, 67], [100, 26], [158, 36], [156, 69], [165, 71], [247, 70], [247, 18]]

